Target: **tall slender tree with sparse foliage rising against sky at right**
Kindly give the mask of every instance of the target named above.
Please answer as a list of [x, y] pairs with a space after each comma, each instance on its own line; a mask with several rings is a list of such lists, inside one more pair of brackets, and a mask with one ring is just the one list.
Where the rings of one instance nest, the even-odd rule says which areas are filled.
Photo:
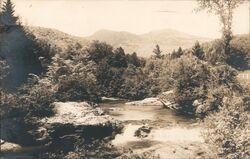
[[222, 36], [225, 43], [225, 53], [229, 53], [229, 45], [232, 40], [233, 10], [244, 0], [198, 0], [200, 10], [206, 9], [219, 16], [222, 24]]

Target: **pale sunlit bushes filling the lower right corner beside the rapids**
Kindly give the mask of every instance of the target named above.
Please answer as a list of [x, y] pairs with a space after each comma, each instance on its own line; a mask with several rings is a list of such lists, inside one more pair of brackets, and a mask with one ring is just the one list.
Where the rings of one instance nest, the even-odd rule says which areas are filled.
[[249, 97], [224, 97], [219, 112], [210, 114], [205, 119], [205, 139], [219, 157], [249, 157], [249, 103]]

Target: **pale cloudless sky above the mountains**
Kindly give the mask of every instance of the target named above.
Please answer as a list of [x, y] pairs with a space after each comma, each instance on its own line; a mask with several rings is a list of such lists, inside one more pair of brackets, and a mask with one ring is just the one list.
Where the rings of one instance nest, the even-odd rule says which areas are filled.
[[[107, 29], [144, 34], [175, 29], [201, 37], [221, 36], [219, 18], [195, 12], [195, 0], [13, 0], [23, 24], [90, 36]], [[250, 2], [235, 10], [233, 33], [250, 30]]]

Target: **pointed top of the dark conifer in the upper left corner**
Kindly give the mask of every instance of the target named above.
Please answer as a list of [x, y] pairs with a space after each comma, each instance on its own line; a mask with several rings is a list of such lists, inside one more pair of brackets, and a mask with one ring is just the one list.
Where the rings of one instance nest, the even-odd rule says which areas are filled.
[[18, 17], [15, 16], [14, 4], [11, 0], [6, 0], [0, 12], [0, 26], [16, 26]]

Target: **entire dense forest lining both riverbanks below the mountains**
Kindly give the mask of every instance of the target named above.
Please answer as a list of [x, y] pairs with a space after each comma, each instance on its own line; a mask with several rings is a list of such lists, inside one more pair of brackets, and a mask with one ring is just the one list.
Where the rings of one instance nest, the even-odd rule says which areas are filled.
[[250, 90], [237, 78], [250, 69], [249, 35], [233, 36], [225, 29], [226, 38], [167, 54], [156, 45], [150, 58], [100, 41], [63, 49], [23, 26], [10, 0], [0, 13], [0, 27], [1, 120], [21, 118], [29, 131], [38, 126], [34, 119], [53, 114], [56, 101], [94, 105], [103, 96], [160, 97], [204, 122], [204, 138], [219, 157], [249, 157]]

